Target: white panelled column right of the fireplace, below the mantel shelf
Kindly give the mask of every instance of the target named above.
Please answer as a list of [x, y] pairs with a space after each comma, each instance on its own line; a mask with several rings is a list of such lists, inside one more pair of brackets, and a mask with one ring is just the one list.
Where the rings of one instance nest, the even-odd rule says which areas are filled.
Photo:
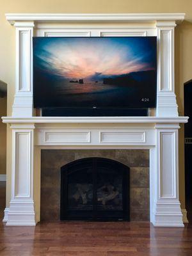
[[156, 124], [150, 202], [151, 222], [158, 227], [184, 227], [179, 202], [178, 129], [179, 124]]

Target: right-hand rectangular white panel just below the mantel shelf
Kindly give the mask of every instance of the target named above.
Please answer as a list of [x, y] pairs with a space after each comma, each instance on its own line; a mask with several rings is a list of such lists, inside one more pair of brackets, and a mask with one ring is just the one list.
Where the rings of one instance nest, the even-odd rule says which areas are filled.
[[127, 144], [127, 143], [146, 143], [146, 132], [122, 132], [122, 131], [100, 131], [99, 143]]

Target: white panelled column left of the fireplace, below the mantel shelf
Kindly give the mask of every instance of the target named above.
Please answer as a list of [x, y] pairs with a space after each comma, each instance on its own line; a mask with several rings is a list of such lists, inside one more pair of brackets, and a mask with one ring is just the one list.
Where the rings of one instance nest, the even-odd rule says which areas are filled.
[[34, 124], [12, 128], [12, 199], [6, 225], [35, 225], [33, 203]]

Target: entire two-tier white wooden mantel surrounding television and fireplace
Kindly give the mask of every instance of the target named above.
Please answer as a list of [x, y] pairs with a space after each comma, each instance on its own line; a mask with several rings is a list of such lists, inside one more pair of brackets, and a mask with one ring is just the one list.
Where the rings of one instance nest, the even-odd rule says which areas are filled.
[[[174, 29], [184, 13], [7, 14], [16, 28], [16, 81], [12, 116], [12, 191], [6, 225], [40, 221], [42, 149], [150, 152], [150, 222], [183, 227], [179, 202], [179, 116], [174, 88]], [[32, 36], [157, 36], [157, 106], [150, 116], [35, 116]], [[7, 195], [8, 196], [8, 195]]]

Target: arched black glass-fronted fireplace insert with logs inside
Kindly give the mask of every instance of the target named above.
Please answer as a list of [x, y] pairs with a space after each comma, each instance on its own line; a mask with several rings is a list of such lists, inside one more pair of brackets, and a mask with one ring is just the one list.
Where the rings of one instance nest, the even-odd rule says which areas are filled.
[[60, 218], [129, 221], [129, 168], [101, 157], [61, 167]]

